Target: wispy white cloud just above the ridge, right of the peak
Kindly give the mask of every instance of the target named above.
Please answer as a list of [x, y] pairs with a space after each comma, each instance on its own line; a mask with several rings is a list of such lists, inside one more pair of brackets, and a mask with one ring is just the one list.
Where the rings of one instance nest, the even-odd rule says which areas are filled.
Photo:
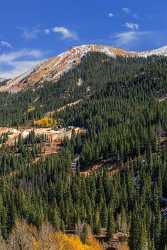
[[112, 38], [114, 39], [114, 44], [117, 47], [124, 47], [132, 45], [134, 42], [139, 41], [141, 38], [144, 38], [149, 34], [149, 31], [128, 31], [117, 33]]

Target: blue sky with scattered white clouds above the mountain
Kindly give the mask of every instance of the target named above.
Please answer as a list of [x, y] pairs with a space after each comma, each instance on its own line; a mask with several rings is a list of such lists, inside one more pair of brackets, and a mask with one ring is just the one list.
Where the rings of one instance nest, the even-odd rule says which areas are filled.
[[1, 0], [0, 77], [86, 43], [128, 50], [167, 45], [167, 1]]

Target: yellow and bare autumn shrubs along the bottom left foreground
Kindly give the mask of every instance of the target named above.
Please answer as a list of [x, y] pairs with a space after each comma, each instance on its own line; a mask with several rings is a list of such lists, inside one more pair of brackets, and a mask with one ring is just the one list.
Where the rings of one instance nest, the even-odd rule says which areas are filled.
[[[1, 248], [3, 246], [3, 248]], [[83, 244], [79, 236], [55, 232], [44, 223], [40, 230], [24, 221], [17, 221], [9, 240], [0, 239], [0, 250], [102, 250], [97, 240], [89, 236]]]

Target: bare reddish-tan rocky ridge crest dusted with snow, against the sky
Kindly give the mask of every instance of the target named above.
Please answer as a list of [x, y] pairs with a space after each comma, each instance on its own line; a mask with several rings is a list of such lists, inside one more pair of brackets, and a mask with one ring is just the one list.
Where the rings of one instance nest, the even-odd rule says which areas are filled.
[[21, 90], [28, 89], [29, 87], [33, 87], [37, 83], [42, 84], [43, 82], [56, 82], [64, 73], [78, 65], [81, 62], [81, 59], [91, 52], [104, 53], [113, 58], [117, 56], [167, 56], [167, 47], [145, 52], [131, 52], [95, 44], [74, 47], [58, 56], [42, 62], [31, 71], [25, 72], [24, 74], [8, 81], [7, 84], [0, 87], [0, 92], [16, 93]]

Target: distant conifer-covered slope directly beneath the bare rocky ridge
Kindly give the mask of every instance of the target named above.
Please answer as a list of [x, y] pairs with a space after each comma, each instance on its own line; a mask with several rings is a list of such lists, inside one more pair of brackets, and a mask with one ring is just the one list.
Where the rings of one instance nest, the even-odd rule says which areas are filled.
[[[157, 71], [152, 75], [151, 72], [148, 72], [149, 75], [147, 72], [143, 72], [143, 64], [147, 71], [149, 64], [151, 64], [150, 70], [156, 69], [154, 57], [150, 57], [148, 60], [140, 57], [126, 57], [125, 59], [118, 57], [115, 60], [104, 53], [88, 53], [82, 58], [79, 65], [64, 74], [56, 81], [56, 84], [55, 81], [46, 81], [35, 89], [28, 88], [15, 94], [0, 93], [0, 124], [16, 126], [39, 119], [48, 112], [59, 110], [80, 99], [90, 99], [96, 92], [105, 89], [108, 83], [114, 83], [113, 88], [115, 88], [115, 82], [119, 84], [126, 79], [129, 81], [129, 75], [132, 81], [136, 81], [137, 76], [142, 78], [142, 74], [145, 74], [148, 80], [150, 76], [152, 84], [159, 77], [163, 81], [166, 59], [165, 57], [157, 58], [157, 61], [161, 64], [161, 71], [164, 71], [162, 76], [159, 76], [160, 72]], [[154, 74], [157, 74], [155, 79], [153, 79]], [[2, 88], [6, 86], [2, 86]], [[156, 86], [153, 91], [159, 98], [166, 94], [166, 90], [157, 89]]]

